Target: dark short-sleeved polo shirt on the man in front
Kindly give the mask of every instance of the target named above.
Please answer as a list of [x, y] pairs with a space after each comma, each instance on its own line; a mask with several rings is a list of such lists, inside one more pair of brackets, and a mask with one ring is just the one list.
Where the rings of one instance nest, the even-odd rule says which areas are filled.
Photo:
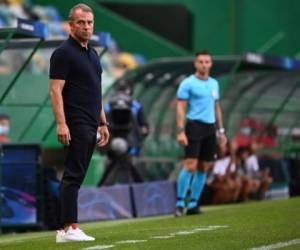
[[65, 80], [62, 96], [69, 126], [99, 125], [101, 73], [96, 50], [90, 45], [82, 47], [72, 36], [53, 52], [49, 75], [50, 79]]

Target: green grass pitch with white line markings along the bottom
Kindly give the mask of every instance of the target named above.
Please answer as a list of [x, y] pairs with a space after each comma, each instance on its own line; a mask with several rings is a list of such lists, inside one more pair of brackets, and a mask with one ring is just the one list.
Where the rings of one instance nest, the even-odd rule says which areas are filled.
[[[56, 244], [53, 231], [2, 235], [0, 249], [300, 249], [300, 198], [203, 210], [202, 215], [181, 218], [162, 216], [81, 225], [96, 237], [94, 242]], [[282, 245], [274, 246], [276, 243]]]

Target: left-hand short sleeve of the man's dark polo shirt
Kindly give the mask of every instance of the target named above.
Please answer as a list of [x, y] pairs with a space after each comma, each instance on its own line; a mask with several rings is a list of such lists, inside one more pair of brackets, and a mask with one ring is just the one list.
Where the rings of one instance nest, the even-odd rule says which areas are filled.
[[66, 80], [69, 73], [69, 60], [66, 51], [57, 49], [50, 58], [50, 79]]

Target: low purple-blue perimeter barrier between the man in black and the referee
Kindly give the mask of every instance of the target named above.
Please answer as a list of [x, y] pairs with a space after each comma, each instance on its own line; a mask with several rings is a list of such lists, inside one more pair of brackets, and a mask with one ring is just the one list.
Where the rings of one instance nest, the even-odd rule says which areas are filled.
[[83, 187], [78, 197], [79, 221], [171, 214], [175, 197], [175, 183], [169, 181]]

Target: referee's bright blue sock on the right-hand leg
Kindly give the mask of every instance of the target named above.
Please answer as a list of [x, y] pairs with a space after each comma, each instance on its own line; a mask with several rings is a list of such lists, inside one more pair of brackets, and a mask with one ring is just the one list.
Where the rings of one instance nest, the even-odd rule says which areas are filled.
[[193, 176], [191, 184], [191, 200], [188, 205], [188, 209], [197, 207], [198, 200], [203, 192], [203, 188], [206, 182], [206, 173], [197, 171]]

